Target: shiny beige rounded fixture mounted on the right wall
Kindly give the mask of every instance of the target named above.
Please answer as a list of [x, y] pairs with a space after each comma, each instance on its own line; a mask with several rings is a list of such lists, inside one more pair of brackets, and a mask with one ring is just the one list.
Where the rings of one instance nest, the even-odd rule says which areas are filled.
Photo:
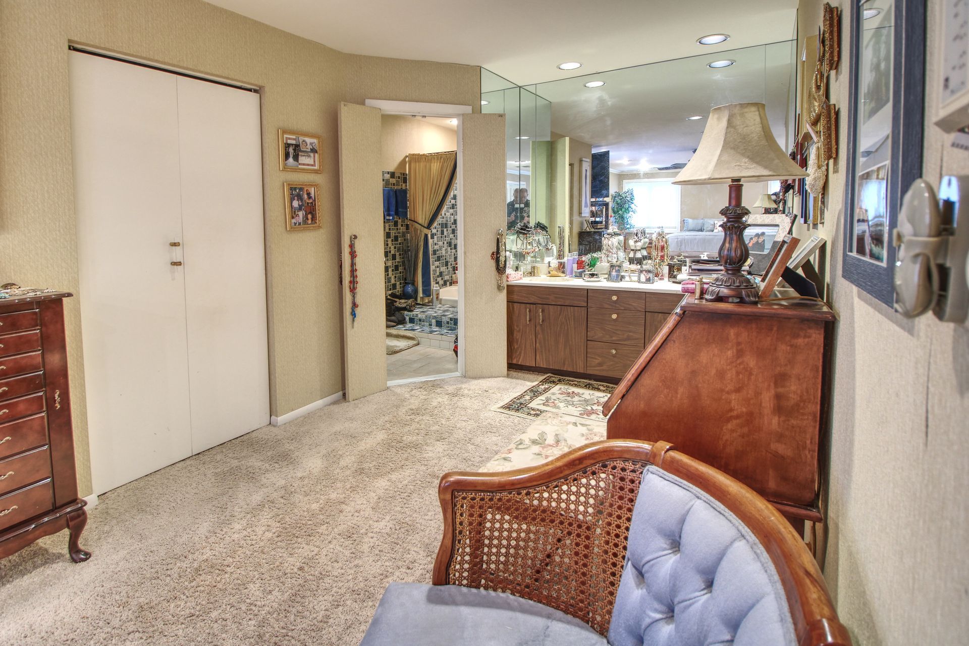
[[902, 200], [892, 243], [895, 310], [915, 318], [929, 309], [961, 323], [969, 313], [969, 176], [946, 176], [939, 194], [922, 178]]

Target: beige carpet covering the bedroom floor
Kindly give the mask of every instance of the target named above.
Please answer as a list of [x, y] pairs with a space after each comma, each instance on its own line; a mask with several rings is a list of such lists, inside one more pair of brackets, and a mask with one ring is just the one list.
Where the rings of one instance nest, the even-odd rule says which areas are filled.
[[[524, 375], [522, 375], [524, 376]], [[357, 644], [385, 586], [430, 582], [437, 481], [529, 420], [514, 378], [391, 388], [266, 427], [101, 497], [0, 561], [2, 644]]]

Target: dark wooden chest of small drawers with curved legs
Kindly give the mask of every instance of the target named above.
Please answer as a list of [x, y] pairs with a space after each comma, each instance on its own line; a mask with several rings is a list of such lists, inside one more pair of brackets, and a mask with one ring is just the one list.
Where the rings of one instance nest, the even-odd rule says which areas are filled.
[[0, 300], [0, 559], [67, 528], [77, 563], [78, 498], [64, 339], [66, 292]]

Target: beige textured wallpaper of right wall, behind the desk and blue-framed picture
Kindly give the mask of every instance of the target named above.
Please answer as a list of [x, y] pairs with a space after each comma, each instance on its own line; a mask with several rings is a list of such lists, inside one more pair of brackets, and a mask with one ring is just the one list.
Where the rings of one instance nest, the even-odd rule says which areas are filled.
[[[801, 0], [800, 35], [823, 0]], [[931, 124], [939, 12], [928, 0], [923, 177], [969, 174], [969, 153]], [[847, 4], [842, 55], [847, 61]], [[848, 105], [848, 68], [832, 100]], [[844, 114], [844, 112], [843, 112]], [[844, 118], [844, 117], [842, 117]], [[841, 149], [845, 149], [844, 129]], [[841, 159], [843, 164], [844, 159]], [[969, 327], [902, 318], [841, 277], [845, 174], [829, 178], [826, 222], [835, 345], [825, 576], [855, 643], [964, 644], [969, 634]], [[805, 227], [799, 226], [803, 231]]]

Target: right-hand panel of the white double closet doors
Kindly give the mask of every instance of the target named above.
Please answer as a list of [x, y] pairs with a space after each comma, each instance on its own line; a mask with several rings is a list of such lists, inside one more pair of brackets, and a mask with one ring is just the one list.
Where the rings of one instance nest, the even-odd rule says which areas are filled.
[[269, 423], [262, 130], [259, 94], [186, 78], [177, 87], [198, 453]]

